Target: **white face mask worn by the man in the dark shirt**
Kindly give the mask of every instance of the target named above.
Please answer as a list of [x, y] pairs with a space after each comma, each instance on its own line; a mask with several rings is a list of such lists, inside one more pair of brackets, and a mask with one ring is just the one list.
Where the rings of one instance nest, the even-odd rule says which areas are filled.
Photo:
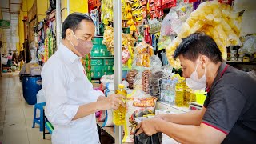
[[[199, 62], [199, 61], [198, 61]], [[186, 78], [186, 86], [188, 86], [192, 90], [203, 90], [206, 88], [206, 69], [205, 74], [202, 75], [202, 78], [198, 79], [198, 63], [191, 74], [190, 78]]]

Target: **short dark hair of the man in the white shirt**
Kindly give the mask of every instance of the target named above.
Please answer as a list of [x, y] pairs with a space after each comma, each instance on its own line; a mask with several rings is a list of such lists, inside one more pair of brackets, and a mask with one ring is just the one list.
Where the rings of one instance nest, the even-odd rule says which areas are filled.
[[62, 38], [66, 38], [66, 29], [71, 29], [73, 31], [77, 30], [82, 20], [94, 23], [90, 16], [86, 14], [72, 13], [68, 15], [62, 25]]

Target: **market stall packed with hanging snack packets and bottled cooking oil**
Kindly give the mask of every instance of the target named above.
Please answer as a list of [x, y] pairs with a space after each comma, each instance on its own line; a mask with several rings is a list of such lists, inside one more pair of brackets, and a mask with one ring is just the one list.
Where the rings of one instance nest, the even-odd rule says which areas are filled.
[[[255, 70], [255, 33], [254, 30], [245, 33], [245, 9], [236, 10], [238, 4], [234, 4], [192, 0], [89, 1], [97, 34], [91, 55], [95, 52], [102, 55], [96, 64], [90, 55], [92, 69], [87, 75], [100, 79], [106, 96], [113, 94], [119, 83], [125, 84], [128, 93], [126, 124], [111, 128], [112, 111], [106, 110], [99, 114], [102, 130], [116, 143], [133, 142], [134, 127], [141, 117], [202, 109], [206, 90], [190, 90], [182, 78], [180, 62], [172, 57], [182, 38], [195, 32], [214, 38], [225, 62], [244, 71]], [[169, 12], [164, 14], [166, 9]], [[114, 76], [107, 71], [111, 66], [105, 68], [108, 65], [104, 59], [112, 55]], [[96, 66], [100, 68], [96, 70]], [[134, 99], [139, 102], [147, 99], [154, 105], [130, 106]]]

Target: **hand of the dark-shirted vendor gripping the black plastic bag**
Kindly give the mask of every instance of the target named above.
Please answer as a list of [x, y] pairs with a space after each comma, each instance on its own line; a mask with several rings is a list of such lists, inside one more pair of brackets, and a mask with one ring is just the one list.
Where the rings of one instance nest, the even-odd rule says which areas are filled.
[[141, 134], [142, 132], [148, 136], [158, 133], [158, 124], [160, 121], [162, 121], [162, 119], [159, 118], [150, 118], [142, 121], [136, 127], [136, 129], [139, 129], [136, 135]]

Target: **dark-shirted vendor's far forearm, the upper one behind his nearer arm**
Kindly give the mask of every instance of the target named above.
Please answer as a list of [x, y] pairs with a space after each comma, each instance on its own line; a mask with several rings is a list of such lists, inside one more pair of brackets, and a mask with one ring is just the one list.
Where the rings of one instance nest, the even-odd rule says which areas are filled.
[[202, 117], [205, 112], [203, 110], [190, 111], [185, 114], [166, 114], [164, 120], [181, 125], [195, 125], [199, 126], [202, 122]]

